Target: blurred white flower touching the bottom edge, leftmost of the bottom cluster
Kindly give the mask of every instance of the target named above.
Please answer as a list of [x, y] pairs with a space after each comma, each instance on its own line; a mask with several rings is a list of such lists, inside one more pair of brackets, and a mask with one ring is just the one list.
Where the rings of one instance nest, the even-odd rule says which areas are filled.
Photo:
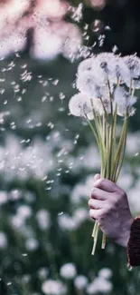
[[64, 295], [66, 287], [60, 280], [46, 280], [42, 284], [42, 292], [46, 295]]

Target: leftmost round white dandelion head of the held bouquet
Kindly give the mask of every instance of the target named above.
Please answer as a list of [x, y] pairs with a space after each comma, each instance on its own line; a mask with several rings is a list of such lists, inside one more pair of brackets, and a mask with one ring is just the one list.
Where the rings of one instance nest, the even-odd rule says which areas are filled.
[[75, 116], [93, 119], [92, 104], [86, 94], [78, 93], [71, 97], [69, 103], [70, 113]]

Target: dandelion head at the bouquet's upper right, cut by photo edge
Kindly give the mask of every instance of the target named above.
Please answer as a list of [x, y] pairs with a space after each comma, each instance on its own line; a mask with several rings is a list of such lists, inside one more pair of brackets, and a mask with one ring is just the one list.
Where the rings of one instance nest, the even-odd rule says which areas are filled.
[[140, 88], [140, 58], [134, 55], [127, 55], [124, 57], [124, 62], [128, 67], [131, 75], [132, 85], [128, 81], [127, 86], [132, 86], [133, 88]]

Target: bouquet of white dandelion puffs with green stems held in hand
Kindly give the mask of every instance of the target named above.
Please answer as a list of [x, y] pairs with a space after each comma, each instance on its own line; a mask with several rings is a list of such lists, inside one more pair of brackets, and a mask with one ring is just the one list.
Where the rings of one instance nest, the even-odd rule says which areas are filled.
[[[84, 117], [95, 136], [101, 158], [100, 175], [117, 182], [126, 151], [128, 117], [135, 114], [135, 89], [140, 88], [140, 59], [98, 54], [79, 64], [76, 85], [79, 93], [70, 99], [70, 113]], [[117, 134], [117, 116], [123, 117]], [[98, 222], [92, 232], [94, 255]], [[106, 236], [103, 234], [102, 249]]]

